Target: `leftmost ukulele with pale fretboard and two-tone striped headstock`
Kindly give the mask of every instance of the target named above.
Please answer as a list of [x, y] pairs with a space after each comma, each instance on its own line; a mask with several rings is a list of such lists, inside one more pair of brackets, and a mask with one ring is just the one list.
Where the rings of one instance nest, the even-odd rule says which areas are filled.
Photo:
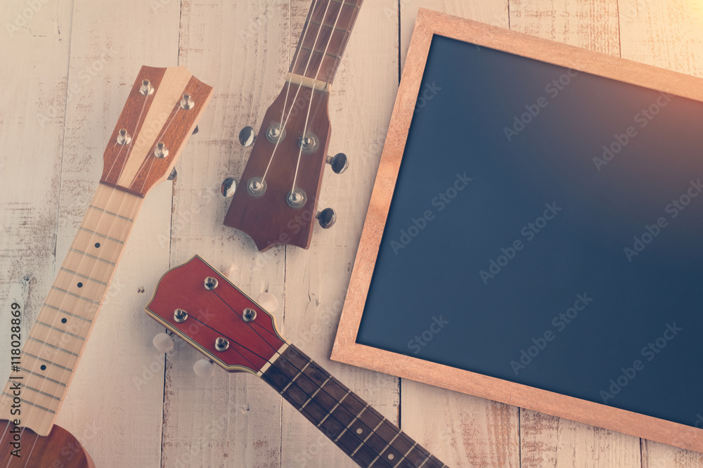
[[[98, 189], [21, 352], [13, 353], [0, 394], [1, 467], [95, 466], [54, 422], [144, 196], [175, 176], [211, 96], [212, 87], [185, 67], [141, 67], [105, 148]], [[19, 329], [12, 336], [18, 347]]]

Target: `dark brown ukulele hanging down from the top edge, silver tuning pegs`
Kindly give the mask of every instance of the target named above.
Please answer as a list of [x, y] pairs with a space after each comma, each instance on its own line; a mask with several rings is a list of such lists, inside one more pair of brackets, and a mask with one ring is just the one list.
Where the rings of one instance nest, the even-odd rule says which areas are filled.
[[362, 0], [313, 0], [290, 70], [278, 98], [266, 110], [258, 135], [252, 127], [239, 134], [254, 145], [240, 183], [228, 177], [222, 194], [233, 197], [224, 219], [250, 235], [264, 252], [274, 245], [310, 247], [317, 220], [330, 228], [331, 208], [317, 211], [325, 163], [336, 174], [347, 156], [328, 156], [328, 100], [335, 72]]

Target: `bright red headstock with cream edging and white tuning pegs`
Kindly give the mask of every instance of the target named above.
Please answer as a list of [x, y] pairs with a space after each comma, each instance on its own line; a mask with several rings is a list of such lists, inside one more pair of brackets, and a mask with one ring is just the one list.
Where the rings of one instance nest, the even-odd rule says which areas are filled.
[[146, 313], [230, 372], [257, 375], [285, 344], [273, 316], [198, 255], [163, 275]]

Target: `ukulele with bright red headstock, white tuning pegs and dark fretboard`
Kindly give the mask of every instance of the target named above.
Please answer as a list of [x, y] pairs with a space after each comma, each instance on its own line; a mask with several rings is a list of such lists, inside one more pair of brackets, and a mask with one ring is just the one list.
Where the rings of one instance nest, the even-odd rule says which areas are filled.
[[264, 379], [356, 464], [446, 466], [286, 342], [275, 318], [200, 256], [163, 275], [146, 313], [228, 372]]

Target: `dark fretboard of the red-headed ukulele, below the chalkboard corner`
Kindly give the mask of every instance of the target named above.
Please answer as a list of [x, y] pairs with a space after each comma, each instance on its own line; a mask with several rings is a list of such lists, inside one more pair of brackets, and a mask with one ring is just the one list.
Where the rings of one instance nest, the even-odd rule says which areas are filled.
[[444, 466], [295, 346], [262, 378], [361, 466]]

